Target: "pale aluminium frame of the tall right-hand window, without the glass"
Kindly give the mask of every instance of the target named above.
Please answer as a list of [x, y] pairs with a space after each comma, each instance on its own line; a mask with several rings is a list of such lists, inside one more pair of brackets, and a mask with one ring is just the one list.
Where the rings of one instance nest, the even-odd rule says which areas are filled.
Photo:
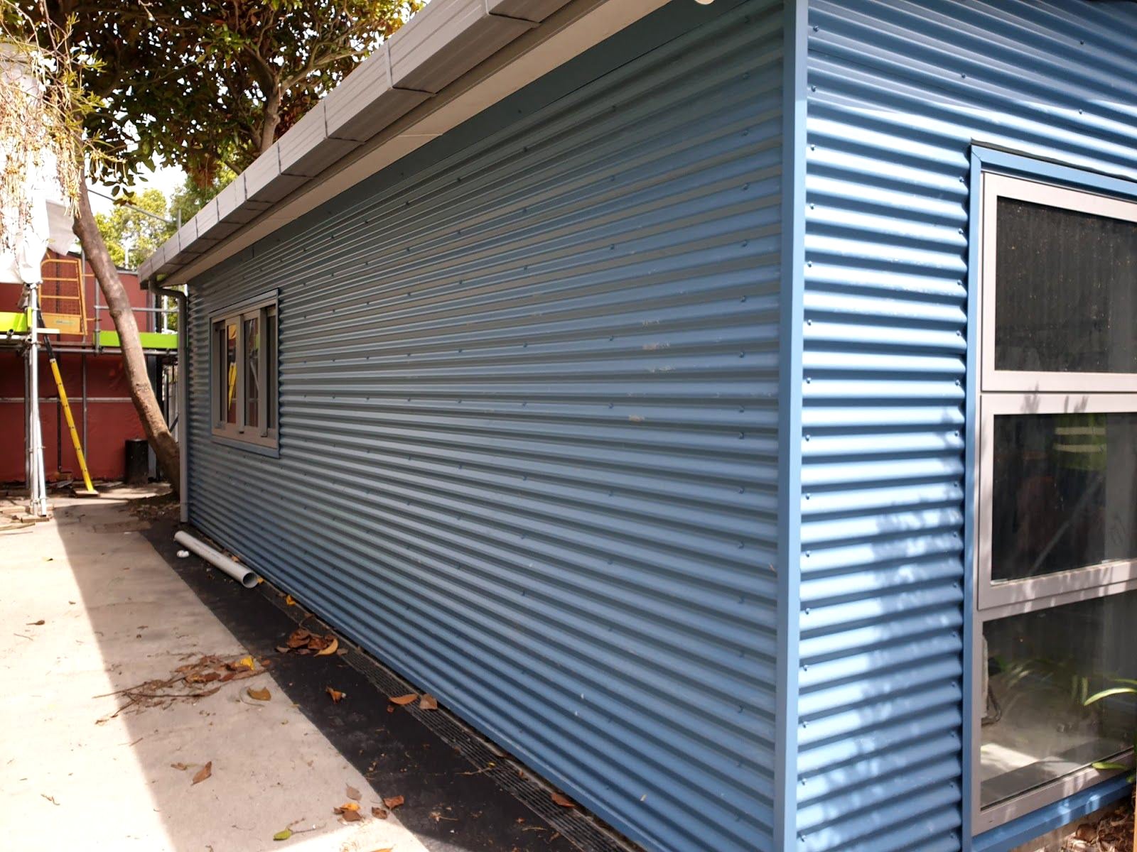
[[[979, 310], [977, 321], [978, 379], [976, 394], [976, 452], [972, 459], [974, 510], [973, 629], [971, 630], [971, 815], [974, 834], [996, 828], [1047, 804], [1078, 793], [1124, 770], [1086, 766], [1074, 772], [1024, 791], [984, 809], [980, 775], [982, 717], [984, 626], [1010, 616], [1052, 609], [1077, 601], [1137, 590], [1137, 558], [1113, 560], [1065, 571], [1014, 580], [991, 580], [991, 479], [994, 476], [995, 417], [1015, 414], [1137, 414], [1137, 374], [999, 370], [995, 368], [995, 269], [997, 204], [1012, 198], [1048, 207], [1077, 210], [1137, 223], [1137, 200], [1105, 195], [1092, 189], [1057, 185], [1037, 176], [1001, 174], [984, 168], [979, 175], [980, 218], [976, 234], [979, 268], [974, 270]], [[1135, 193], [1137, 194], [1137, 193]], [[1132, 750], [1103, 754], [1132, 766]]]

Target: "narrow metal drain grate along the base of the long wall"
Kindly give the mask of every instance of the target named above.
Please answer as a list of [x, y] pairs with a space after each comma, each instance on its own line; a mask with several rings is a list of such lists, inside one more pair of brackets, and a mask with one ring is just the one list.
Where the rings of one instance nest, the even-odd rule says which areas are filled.
[[[292, 621], [318, 624], [321, 632], [339, 633], [325, 621], [301, 607], [290, 607], [284, 602], [284, 593], [267, 579], [258, 586], [269, 601], [284, 612]], [[359, 674], [366, 677], [384, 695], [401, 695], [408, 692], [422, 692], [387, 668], [364, 649], [340, 636], [340, 648], [347, 649], [342, 659]], [[596, 818], [579, 808], [562, 808], [553, 802], [549, 794], [554, 787], [533, 774], [521, 761], [508, 755], [493, 742], [487, 740], [476, 730], [462, 721], [454, 713], [439, 708], [423, 711], [414, 704], [402, 708], [418, 722], [455, 749], [482, 775], [495, 784], [508, 791], [514, 799], [522, 802], [531, 811], [541, 817], [554, 830], [558, 832], [581, 852], [642, 852], [642, 850], [614, 829], [601, 825]], [[489, 765], [493, 763], [492, 767]]]

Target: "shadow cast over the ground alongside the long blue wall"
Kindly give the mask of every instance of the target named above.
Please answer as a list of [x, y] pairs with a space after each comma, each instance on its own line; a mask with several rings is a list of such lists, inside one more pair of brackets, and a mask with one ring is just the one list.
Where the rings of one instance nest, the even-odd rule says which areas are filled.
[[[115, 492], [110, 492], [110, 496], [114, 495]], [[276, 645], [283, 643], [296, 624], [269, 599], [268, 595], [275, 592], [269, 591], [267, 583], [256, 590], [244, 590], [224, 575], [208, 570], [196, 557], [179, 559], [173, 542], [177, 528], [173, 520], [176, 518], [173, 501], [158, 498], [135, 503], [132, 509], [134, 512], [126, 511], [117, 501], [93, 500], [61, 501], [56, 511], [60, 540], [106, 661], [110, 691], [149, 678], [168, 677], [176, 666], [200, 654], [232, 655], [247, 651], [268, 661], [272, 677], [284, 692], [260, 707], [256, 702], [241, 701], [238, 712], [231, 712], [233, 708], [221, 702], [239, 701], [238, 693], [243, 692], [243, 686], [258, 683], [249, 679], [230, 684], [218, 694], [196, 703], [183, 701], [169, 709], [150, 708], [117, 717], [125, 724], [133, 757], [149, 780], [152, 810], [163, 817], [169, 849], [176, 852], [209, 849], [243, 852], [302, 847], [368, 852], [383, 847], [382, 842], [368, 840], [364, 841], [366, 845], [356, 841], [343, 844], [340, 835], [331, 836], [332, 832], [343, 828], [331, 812], [332, 807], [345, 801], [345, 784], [339, 778], [354, 774], [348, 776], [338, 772], [335, 767], [325, 766], [329, 762], [326, 754], [321, 757], [319, 751], [321, 746], [326, 751], [326, 744], [312, 742], [318, 737], [296, 740], [287, 727], [288, 719], [277, 718], [285, 710], [298, 710], [331, 742], [342, 757], [345, 770], [350, 765], [383, 796], [405, 797], [406, 803], [398, 809], [397, 816], [417, 843], [396, 843], [397, 852], [422, 847], [432, 852], [571, 852], [575, 849], [409, 713], [389, 712], [388, 696], [380, 694], [342, 658], [277, 652]], [[148, 552], [142, 556], [160, 557], [164, 565], [139, 558], [139, 536], [149, 543]], [[176, 607], [164, 605], [164, 601], [174, 600], [177, 587], [184, 594], [184, 586], [192, 590], [235, 642], [229, 637], [218, 640], [224, 634], [222, 630], [205, 636], [200, 615], [186, 618]], [[124, 630], [127, 623], [133, 626]], [[153, 650], [139, 658], [134, 648]], [[329, 686], [348, 698], [333, 703], [326, 694]], [[114, 705], [107, 704], [106, 709], [113, 712]], [[94, 721], [92, 718], [90, 724], [94, 726]], [[267, 738], [264, 735], [266, 724], [277, 726]], [[262, 730], [258, 734], [248, 726], [259, 726]], [[196, 746], [175, 749], [166, 735], [172, 727], [181, 730], [176, 742], [196, 743]], [[293, 724], [292, 729], [296, 728]], [[289, 736], [293, 738], [288, 740]], [[268, 749], [272, 753], [258, 754], [265, 743], [274, 743]], [[277, 753], [281, 749], [294, 752], [284, 755], [283, 763]], [[246, 835], [246, 842], [238, 841], [233, 845], [233, 840], [250, 827], [242, 826], [243, 820], [238, 819], [223, 832], [227, 843], [210, 845], [210, 837], [217, 835], [210, 834], [201, 821], [201, 815], [210, 812], [209, 807], [184, 807], [186, 797], [208, 795], [209, 784], [192, 786], [192, 769], [179, 771], [171, 765], [185, 762], [196, 768], [207, 759], [214, 761], [215, 776], [241, 772], [242, 778], [247, 778], [247, 783], [238, 785], [238, 795], [243, 801], [236, 811], [232, 802], [217, 802], [217, 816], [224, 813], [225, 819], [233, 812], [252, 815], [248, 822], [259, 827], [255, 836]], [[260, 769], [274, 768], [272, 771], [280, 772], [281, 766], [285, 767], [287, 778], [274, 779]], [[329, 780], [329, 772], [335, 780]], [[370, 791], [365, 791], [363, 802], [365, 811], [379, 802], [377, 795], [367, 793]], [[274, 830], [301, 817], [305, 822], [297, 828], [326, 825], [321, 832], [273, 843], [272, 832], [266, 833], [266, 824], [260, 819], [268, 810], [273, 812]], [[391, 822], [391, 828], [397, 828]], [[317, 842], [322, 835], [325, 843]], [[136, 844], [122, 846], [132, 847], [155, 849]]]

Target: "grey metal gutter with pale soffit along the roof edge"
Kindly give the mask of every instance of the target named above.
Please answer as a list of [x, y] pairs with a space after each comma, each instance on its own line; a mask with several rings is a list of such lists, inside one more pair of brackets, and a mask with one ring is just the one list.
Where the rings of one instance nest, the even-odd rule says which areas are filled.
[[139, 267], [173, 285], [391, 165], [665, 0], [434, 0]]

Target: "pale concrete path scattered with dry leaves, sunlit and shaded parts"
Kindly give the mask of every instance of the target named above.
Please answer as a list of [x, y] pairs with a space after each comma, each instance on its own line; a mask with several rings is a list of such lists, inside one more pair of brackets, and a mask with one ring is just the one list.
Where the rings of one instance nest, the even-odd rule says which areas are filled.
[[[368, 815], [397, 791], [372, 790], [271, 669], [115, 716], [125, 700], [108, 693], [205, 654], [246, 654], [138, 532], [146, 521], [126, 503], [149, 493], [57, 498], [53, 521], [0, 533], [0, 846], [424, 852], [397, 811], [352, 824], [333, 815], [348, 786]], [[206, 763], [211, 775], [193, 784]]]

